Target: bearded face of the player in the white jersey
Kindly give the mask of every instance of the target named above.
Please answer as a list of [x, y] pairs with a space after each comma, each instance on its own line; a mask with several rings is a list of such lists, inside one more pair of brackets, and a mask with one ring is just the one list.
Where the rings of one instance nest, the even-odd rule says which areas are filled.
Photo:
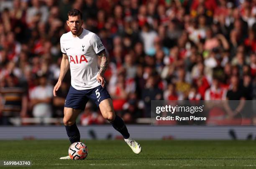
[[82, 29], [83, 20], [80, 18], [80, 15], [78, 16], [69, 16], [69, 20], [67, 20], [67, 25], [69, 26], [69, 29], [71, 30], [73, 35], [77, 35], [80, 33], [80, 30]]

